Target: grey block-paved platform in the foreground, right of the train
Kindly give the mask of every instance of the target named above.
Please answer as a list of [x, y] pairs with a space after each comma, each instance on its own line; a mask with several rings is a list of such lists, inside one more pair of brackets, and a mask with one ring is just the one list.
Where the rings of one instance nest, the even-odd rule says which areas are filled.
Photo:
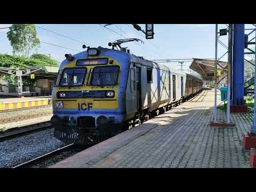
[[[214, 90], [204, 90], [51, 167], [250, 167], [250, 151], [243, 150], [242, 133], [250, 130], [253, 114], [232, 113], [235, 126], [213, 127], [209, 125], [213, 105]], [[225, 115], [219, 110], [218, 118]]]

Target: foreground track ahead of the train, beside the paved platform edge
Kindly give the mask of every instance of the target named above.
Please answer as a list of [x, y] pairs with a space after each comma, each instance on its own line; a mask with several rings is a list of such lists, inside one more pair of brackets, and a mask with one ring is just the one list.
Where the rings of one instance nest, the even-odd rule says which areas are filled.
[[[65, 153], [67, 151], [70, 151], [70, 150], [73, 150], [73, 149], [76, 149], [76, 146], [74, 143], [71, 143], [70, 145], [67, 145], [65, 147], [62, 147], [62, 148], [59, 148], [59, 149], [56, 149], [54, 151], [51, 151], [50, 153], [47, 153], [45, 155], [42, 155], [42, 156], [39, 156], [37, 158], [34, 158], [28, 162], [25, 162], [25, 163], [22, 163], [20, 165], [17, 165], [17, 166], [14, 166], [12, 168], [29, 168], [29, 167], [33, 167], [33, 166], [36, 166], [37, 164], [40, 164], [44, 161], [47, 161], [51, 158], [54, 158], [56, 156], [61, 156], [62, 153]], [[83, 150], [83, 149], [81, 149]]]

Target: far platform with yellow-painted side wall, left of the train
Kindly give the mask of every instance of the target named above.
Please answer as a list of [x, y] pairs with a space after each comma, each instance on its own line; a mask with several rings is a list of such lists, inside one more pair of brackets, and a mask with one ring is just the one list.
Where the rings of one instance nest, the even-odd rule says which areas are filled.
[[24, 97], [24, 98], [0, 98], [0, 111], [27, 107], [51, 105], [51, 96]]

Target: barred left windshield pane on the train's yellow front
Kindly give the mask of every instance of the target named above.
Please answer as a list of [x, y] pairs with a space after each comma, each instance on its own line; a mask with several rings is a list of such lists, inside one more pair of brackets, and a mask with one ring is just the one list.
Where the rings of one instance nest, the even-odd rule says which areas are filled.
[[84, 83], [86, 68], [65, 68], [59, 86], [81, 86]]

